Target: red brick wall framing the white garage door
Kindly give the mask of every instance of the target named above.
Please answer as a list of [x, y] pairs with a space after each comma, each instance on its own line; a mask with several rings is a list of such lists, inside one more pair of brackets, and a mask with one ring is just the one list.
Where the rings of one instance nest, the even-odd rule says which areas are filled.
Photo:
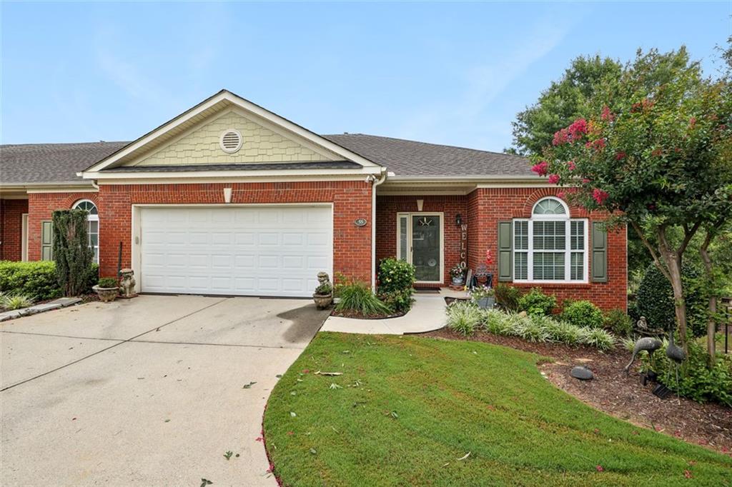
[[[296, 183], [102, 185], [99, 192], [100, 274], [117, 271], [119, 242], [122, 267], [131, 263], [132, 205], [145, 203], [224, 203], [223, 189], [233, 189], [231, 203], [333, 203], [333, 268], [371, 282], [371, 185], [365, 181]], [[365, 227], [354, 220], [367, 219]]]

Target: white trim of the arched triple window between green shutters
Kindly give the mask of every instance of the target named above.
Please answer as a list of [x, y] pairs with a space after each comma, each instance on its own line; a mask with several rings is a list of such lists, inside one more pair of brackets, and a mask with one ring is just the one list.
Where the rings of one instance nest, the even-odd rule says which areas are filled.
[[[534, 209], [539, 204], [539, 202], [547, 199], [553, 199], [556, 201], [559, 201], [561, 205], [564, 207], [564, 215], [548, 215], [548, 214], [534, 214]], [[564, 276], [567, 279], [534, 279], [534, 225], [531, 224], [531, 222], [536, 221], [555, 221], [555, 222], [567, 222], [566, 225], [564, 225], [564, 238], [566, 247], [564, 249]], [[515, 262], [516, 262], [516, 242], [515, 242], [515, 229], [516, 229], [516, 222], [527, 222], [526, 227], [528, 231], [528, 238], [529, 238], [529, 249], [520, 249], [518, 252], [526, 252], [526, 277], [527, 279], [516, 279], [515, 278]], [[572, 276], [572, 252], [580, 252], [578, 250], [572, 250], [572, 222], [584, 222], [584, 242], [583, 242], [583, 276], [582, 279], [569, 279], [570, 276]], [[564, 203], [564, 201], [559, 200], [559, 198], [542, 198], [542, 200], [537, 201], [537, 203], [534, 204], [534, 207], [531, 208], [531, 218], [515, 218], [513, 219], [513, 224], [511, 226], [511, 240], [513, 242], [513, 248], [511, 249], [512, 252], [512, 265], [514, 265], [514, 268], [512, 268], [512, 275], [514, 276], [513, 282], [526, 282], [529, 284], [587, 284], [589, 282], [589, 219], [586, 218], [569, 218], [569, 208], [567, 208], [567, 204]], [[556, 252], [556, 251], [555, 251]], [[561, 252], [561, 251], [560, 251]]]

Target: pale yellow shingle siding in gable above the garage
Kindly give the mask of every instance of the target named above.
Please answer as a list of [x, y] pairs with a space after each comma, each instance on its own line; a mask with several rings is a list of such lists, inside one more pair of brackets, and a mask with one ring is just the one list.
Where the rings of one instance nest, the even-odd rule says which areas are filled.
[[[219, 146], [219, 138], [227, 129], [242, 133], [244, 143], [235, 154], [227, 154]], [[132, 165], [232, 164], [236, 162], [298, 162], [343, 159], [323, 149], [318, 154], [295, 140], [273, 132], [238, 113], [229, 112], [156, 153], [132, 162]]]

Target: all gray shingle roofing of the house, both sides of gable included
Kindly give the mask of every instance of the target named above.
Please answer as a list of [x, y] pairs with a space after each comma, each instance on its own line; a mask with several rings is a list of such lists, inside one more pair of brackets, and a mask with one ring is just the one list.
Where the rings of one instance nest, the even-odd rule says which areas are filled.
[[[351, 152], [384, 165], [397, 176], [531, 176], [528, 159], [499, 152], [441, 146], [414, 140], [376, 135], [324, 135], [324, 138]], [[0, 184], [78, 183], [76, 173], [85, 170], [129, 142], [92, 142], [66, 144], [21, 144], [0, 146]], [[283, 164], [281, 168], [303, 169], [303, 163]], [[335, 162], [342, 165], [343, 162]], [[166, 167], [165, 171], [196, 170], [199, 165]], [[237, 165], [236, 169], [242, 169]], [[280, 169], [252, 165], [258, 169]], [[350, 166], [349, 166], [350, 167]], [[226, 170], [206, 166], [209, 170]], [[327, 169], [328, 167], [317, 167]], [[343, 168], [343, 167], [337, 167]], [[116, 171], [136, 172], [143, 168], [118, 167]], [[152, 167], [146, 167], [152, 170]], [[163, 170], [163, 169], [155, 169]], [[106, 172], [106, 171], [105, 171]]]

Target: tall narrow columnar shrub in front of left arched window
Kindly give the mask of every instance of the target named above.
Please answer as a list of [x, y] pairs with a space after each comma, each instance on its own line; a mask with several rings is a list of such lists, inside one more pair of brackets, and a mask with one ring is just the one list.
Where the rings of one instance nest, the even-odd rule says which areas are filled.
[[53, 260], [56, 277], [64, 295], [76, 296], [86, 290], [94, 251], [89, 247], [86, 211], [53, 212]]

